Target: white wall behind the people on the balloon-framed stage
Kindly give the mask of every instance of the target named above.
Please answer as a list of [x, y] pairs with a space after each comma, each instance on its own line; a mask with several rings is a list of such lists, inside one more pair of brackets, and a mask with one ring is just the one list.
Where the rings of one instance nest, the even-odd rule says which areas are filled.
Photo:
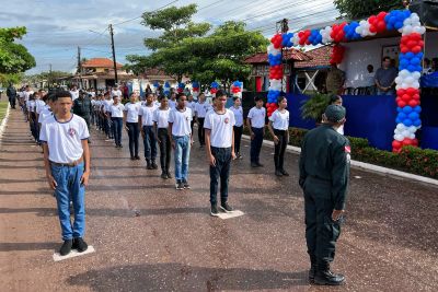
[[[401, 37], [391, 37], [343, 44], [346, 47], [346, 52], [339, 69], [346, 73], [345, 85], [347, 87], [364, 86], [367, 66], [372, 65], [376, 72], [381, 67], [382, 47], [399, 46], [400, 39]], [[425, 57], [429, 59], [438, 57], [438, 33], [427, 32], [425, 43]]]

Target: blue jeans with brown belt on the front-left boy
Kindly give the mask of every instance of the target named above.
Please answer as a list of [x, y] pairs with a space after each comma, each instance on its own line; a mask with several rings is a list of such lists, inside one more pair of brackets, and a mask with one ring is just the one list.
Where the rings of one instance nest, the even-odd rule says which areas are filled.
[[[85, 233], [85, 187], [81, 184], [83, 163], [77, 166], [51, 164], [51, 175], [58, 186], [55, 189], [62, 240], [83, 237]], [[70, 221], [70, 200], [73, 202], [74, 221]]]

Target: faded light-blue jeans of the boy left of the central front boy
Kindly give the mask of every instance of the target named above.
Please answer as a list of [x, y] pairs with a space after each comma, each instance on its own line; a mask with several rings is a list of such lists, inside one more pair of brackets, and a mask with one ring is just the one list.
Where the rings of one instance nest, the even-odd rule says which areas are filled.
[[176, 183], [187, 182], [188, 161], [191, 159], [191, 137], [173, 136], [175, 142], [175, 179]]

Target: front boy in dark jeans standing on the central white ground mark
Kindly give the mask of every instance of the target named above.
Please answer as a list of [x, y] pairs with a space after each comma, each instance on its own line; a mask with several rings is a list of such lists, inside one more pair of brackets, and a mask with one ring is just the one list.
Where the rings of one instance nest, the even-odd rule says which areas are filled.
[[207, 157], [210, 164], [210, 213], [217, 217], [218, 211], [218, 180], [220, 179], [220, 209], [231, 212], [228, 203], [228, 183], [230, 178], [231, 160], [234, 154], [235, 125], [234, 114], [226, 108], [227, 94], [222, 91], [216, 93], [216, 108], [209, 110], [204, 128], [206, 131]]

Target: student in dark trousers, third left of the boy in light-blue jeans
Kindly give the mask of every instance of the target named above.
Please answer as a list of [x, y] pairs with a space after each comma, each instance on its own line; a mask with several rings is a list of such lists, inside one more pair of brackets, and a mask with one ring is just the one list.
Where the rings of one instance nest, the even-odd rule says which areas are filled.
[[138, 136], [140, 128], [138, 126], [138, 114], [141, 108], [141, 104], [137, 102], [137, 94], [132, 92], [129, 96], [129, 103], [125, 104], [125, 125], [129, 136], [129, 153], [130, 160], [140, 160], [138, 155]]

